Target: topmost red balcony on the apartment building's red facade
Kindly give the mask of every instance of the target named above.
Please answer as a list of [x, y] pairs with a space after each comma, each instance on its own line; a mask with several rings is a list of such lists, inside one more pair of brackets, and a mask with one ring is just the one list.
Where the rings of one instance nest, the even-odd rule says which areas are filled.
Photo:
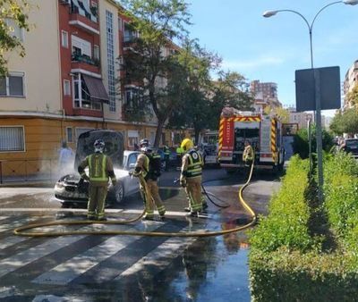
[[97, 17], [90, 13], [86, 13], [84, 10], [75, 5], [72, 5], [70, 12], [71, 16], [69, 24], [84, 31], [90, 32], [91, 34], [99, 35], [99, 25]]

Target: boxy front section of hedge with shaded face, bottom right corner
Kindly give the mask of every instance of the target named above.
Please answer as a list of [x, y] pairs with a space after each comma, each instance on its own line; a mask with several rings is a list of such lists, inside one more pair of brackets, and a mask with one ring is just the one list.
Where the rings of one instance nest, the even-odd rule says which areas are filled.
[[356, 259], [285, 247], [250, 255], [251, 301], [356, 301]]

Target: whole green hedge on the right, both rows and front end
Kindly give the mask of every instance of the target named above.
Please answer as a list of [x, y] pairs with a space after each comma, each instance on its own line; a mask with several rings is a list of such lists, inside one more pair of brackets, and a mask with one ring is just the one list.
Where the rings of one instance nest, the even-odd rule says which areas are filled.
[[[251, 231], [252, 301], [358, 301], [357, 163], [343, 154], [326, 158], [323, 205], [306, 200], [307, 172], [306, 161], [290, 161], [268, 217]], [[320, 245], [328, 234], [310, 230], [318, 210], [328, 214], [336, 243], [329, 250]]]

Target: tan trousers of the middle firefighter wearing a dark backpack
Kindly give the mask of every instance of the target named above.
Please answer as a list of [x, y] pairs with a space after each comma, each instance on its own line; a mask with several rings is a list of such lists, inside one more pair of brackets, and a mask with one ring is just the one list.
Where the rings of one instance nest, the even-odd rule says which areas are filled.
[[159, 196], [159, 188], [157, 180], [144, 180], [140, 179], [141, 183], [141, 197], [143, 197], [146, 216], [154, 216], [154, 206], [157, 206], [157, 210], [160, 216], [166, 213], [166, 207], [163, 205], [163, 201]]

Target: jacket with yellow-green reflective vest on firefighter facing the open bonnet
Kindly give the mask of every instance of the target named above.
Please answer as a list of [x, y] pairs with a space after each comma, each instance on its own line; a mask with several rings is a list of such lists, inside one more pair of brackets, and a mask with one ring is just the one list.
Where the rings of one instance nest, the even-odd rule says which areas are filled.
[[[89, 176], [84, 169], [89, 167]], [[102, 153], [95, 153], [87, 156], [79, 165], [78, 172], [83, 179], [90, 180], [90, 183], [98, 186], [107, 186], [108, 178], [115, 184], [115, 172], [110, 157]]]

